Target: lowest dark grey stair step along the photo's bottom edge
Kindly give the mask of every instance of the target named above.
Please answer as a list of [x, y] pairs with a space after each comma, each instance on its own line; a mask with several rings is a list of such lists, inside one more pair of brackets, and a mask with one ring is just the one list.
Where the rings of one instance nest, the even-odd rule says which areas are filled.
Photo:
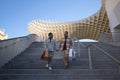
[[118, 80], [120, 78], [119, 75], [80, 75], [80, 74], [48, 74], [48, 75], [41, 75], [41, 74], [19, 74], [19, 75], [0, 75], [0, 78], [2, 79], [28, 79], [28, 80], [34, 80], [34, 79], [39, 79], [39, 80], [81, 80], [81, 79], [101, 79], [101, 80]]

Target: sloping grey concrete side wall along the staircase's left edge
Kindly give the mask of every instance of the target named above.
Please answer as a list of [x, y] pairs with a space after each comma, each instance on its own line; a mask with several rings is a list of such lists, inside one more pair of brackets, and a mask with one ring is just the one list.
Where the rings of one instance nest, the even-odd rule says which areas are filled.
[[28, 35], [0, 41], [0, 67], [24, 51], [32, 42], [38, 40], [36, 35]]

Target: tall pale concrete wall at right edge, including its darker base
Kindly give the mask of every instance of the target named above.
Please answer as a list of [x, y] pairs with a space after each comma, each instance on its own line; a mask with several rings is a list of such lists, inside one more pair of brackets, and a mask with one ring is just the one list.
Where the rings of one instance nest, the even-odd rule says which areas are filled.
[[119, 36], [116, 34], [120, 33], [120, 0], [105, 0], [105, 8], [109, 18], [109, 26], [113, 33], [113, 40], [120, 42]]

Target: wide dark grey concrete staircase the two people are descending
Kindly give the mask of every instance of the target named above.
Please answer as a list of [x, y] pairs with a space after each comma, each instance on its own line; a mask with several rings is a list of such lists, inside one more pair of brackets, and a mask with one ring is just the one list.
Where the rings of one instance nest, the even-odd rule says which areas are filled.
[[[86, 48], [90, 43], [82, 44], [85, 46], [75, 43], [77, 57], [74, 61], [70, 60], [69, 69], [64, 69], [62, 54], [56, 52], [53, 70], [48, 70], [45, 68], [46, 61], [40, 60], [44, 50], [43, 42], [34, 42], [0, 69], [0, 80], [120, 80], [118, 66], [93, 46], [90, 47], [90, 69]], [[91, 44], [104, 46], [102, 43]]]

